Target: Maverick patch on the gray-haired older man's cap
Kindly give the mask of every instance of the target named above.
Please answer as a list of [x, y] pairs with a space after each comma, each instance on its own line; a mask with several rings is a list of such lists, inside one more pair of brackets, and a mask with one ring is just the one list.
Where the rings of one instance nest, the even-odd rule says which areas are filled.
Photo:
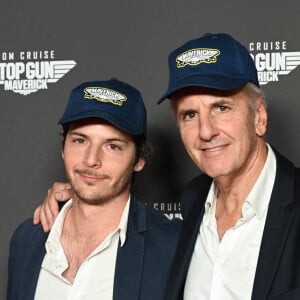
[[209, 48], [196, 48], [183, 52], [176, 57], [177, 68], [183, 68], [187, 65], [196, 66], [201, 63], [215, 63], [220, 50]]

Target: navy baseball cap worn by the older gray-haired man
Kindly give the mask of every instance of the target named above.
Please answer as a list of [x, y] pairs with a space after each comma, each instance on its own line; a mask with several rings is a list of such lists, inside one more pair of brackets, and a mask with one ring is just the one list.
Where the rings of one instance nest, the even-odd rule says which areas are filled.
[[226, 33], [206, 33], [169, 55], [169, 86], [158, 103], [185, 87], [235, 90], [252, 82], [259, 87], [249, 51]]

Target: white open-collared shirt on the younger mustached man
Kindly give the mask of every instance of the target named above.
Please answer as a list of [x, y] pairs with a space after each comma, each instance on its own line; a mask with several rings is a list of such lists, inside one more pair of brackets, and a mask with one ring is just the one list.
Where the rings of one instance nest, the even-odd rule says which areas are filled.
[[46, 255], [38, 278], [35, 300], [112, 299], [118, 244], [119, 240], [121, 246], [125, 243], [129, 203], [130, 199], [117, 229], [84, 260], [73, 284], [62, 276], [68, 268], [68, 262], [60, 243], [60, 236], [65, 213], [72, 200], [64, 205], [46, 241]]

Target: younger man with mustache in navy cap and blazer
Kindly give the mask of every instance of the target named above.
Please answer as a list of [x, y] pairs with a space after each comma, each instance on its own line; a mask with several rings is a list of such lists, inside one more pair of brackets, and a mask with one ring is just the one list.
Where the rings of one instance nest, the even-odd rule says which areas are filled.
[[49, 234], [32, 220], [14, 233], [7, 299], [163, 300], [180, 223], [130, 193], [147, 151], [140, 93], [116, 79], [82, 83], [59, 124], [72, 199]]

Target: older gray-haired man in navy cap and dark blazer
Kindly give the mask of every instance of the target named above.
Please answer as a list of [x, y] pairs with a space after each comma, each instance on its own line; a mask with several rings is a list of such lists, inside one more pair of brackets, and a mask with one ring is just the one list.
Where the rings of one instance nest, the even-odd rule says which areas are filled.
[[169, 56], [169, 98], [204, 173], [182, 195], [183, 231], [168, 300], [300, 299], [299, 170], [265, 141], [255, 64], [228, 34]]

